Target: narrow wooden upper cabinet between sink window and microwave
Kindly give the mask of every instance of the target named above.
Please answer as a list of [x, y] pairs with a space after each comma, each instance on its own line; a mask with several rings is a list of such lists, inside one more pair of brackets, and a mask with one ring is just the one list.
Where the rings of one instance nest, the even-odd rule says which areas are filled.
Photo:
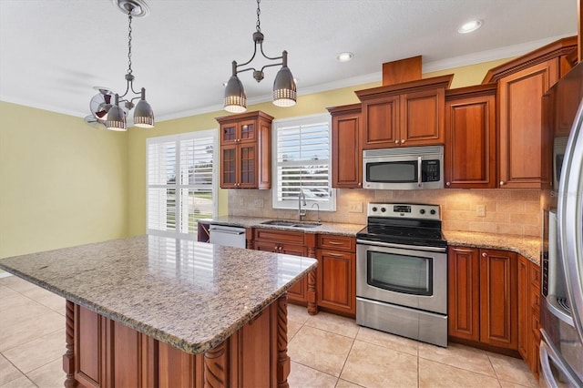
[[332, 188], [363, 188], [361, 104], [328, 107], [332, 115]]

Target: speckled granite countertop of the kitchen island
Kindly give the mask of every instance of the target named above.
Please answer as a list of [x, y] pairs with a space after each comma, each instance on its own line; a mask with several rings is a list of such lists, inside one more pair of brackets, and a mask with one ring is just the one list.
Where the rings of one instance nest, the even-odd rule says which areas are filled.
[[315, 266], [151, 235], [0, 260], [0, 269], [193, 354], [238, 331]]

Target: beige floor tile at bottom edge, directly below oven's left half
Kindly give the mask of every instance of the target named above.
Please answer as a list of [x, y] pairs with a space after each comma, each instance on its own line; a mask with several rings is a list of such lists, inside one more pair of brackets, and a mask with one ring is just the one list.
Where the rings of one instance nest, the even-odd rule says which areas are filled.
[[340, 378], [368, 388], [416, 387], [417, 357], [354, 341]]

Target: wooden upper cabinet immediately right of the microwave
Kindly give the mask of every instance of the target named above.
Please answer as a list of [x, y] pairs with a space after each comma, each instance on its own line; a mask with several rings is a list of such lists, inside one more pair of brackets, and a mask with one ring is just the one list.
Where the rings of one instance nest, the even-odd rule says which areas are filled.
[[445, 91], [445, 188], [496, 188], [496, 84]]

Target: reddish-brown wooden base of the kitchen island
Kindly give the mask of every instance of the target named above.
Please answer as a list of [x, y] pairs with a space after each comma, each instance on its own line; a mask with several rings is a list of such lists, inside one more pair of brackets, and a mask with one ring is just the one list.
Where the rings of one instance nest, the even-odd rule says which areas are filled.
[[63, 369], [66, 387], [287, 387], [287, 296], [200, 354], [67, 301]]

